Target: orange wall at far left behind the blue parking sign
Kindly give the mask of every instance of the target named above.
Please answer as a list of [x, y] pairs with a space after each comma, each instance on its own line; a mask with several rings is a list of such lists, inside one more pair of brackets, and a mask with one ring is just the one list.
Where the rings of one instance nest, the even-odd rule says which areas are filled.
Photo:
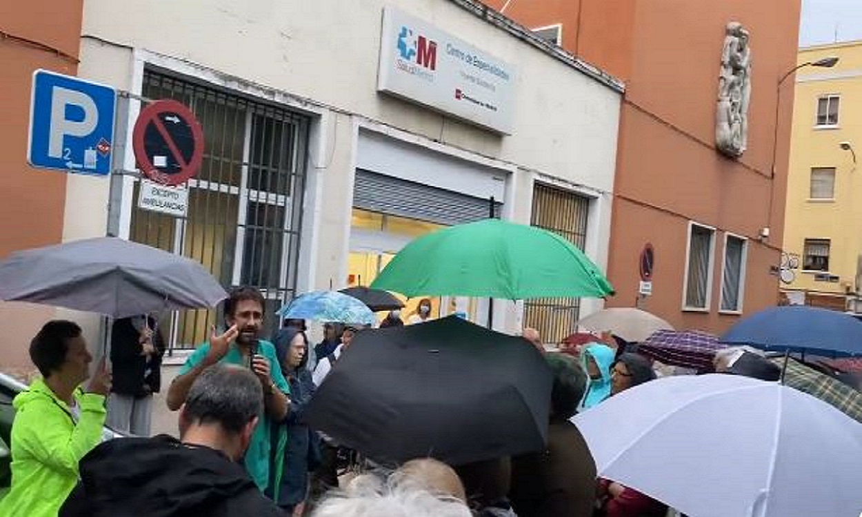
[[[0, 258], [62, 238], [66, 174], [27, 165], [30, 89], [38, 68], [77, 72], [82, 9], [83, 0], [0, 3]], [[0, 302], [0, 366], [28, 364], [25, 343], [52, 316], [52, 308]]]

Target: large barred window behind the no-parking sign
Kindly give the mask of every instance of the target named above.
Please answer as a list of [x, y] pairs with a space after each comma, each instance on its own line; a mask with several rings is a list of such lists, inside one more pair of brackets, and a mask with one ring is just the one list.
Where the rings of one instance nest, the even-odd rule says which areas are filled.
[[[258, 288], [265, 333], [272, 332], [273, 313], [297, 285], [308, 118], [153, 70], [144, 73], [142, 95], [189, 106], [205, 145], [186, 217], [139, 209], [135, 182], [131, 239], [199, 260], [227, 289]], [[221, 322], [215, 309], [191, 310], [163, 318], [162, 328], [173, 347], [190, 348]]]

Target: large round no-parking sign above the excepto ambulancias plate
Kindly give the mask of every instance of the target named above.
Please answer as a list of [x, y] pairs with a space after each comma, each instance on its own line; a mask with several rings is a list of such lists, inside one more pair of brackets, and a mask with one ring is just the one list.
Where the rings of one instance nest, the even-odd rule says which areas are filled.
[[141, 172], [166, 185], [183, 184], [203, 163], [203, 129], [184, 104], [154, 101], [141, 109], [132, 132]]

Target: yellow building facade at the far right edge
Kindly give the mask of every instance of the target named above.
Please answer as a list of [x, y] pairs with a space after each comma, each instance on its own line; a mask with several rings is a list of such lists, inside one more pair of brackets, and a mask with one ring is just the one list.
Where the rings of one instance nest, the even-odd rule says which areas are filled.
[[[829, 57], [831, 69], [808, 65]], [[862, 42], [803, 48], [797, 63], [783, 291], [792, 304], [859, 312]]]

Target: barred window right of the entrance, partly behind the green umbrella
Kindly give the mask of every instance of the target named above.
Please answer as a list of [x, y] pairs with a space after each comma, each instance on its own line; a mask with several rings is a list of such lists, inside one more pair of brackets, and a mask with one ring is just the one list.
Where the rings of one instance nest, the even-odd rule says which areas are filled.
[[[536, 184], [533, 190], [533, 215], [530, 223], [563, 236], [584, 249], [590, 198]], [[534, 327], [546, 343], [559, 343], [574, 332], [578, 323], [580, 300], [540, 298], [524, 302], [524, 325]]]

